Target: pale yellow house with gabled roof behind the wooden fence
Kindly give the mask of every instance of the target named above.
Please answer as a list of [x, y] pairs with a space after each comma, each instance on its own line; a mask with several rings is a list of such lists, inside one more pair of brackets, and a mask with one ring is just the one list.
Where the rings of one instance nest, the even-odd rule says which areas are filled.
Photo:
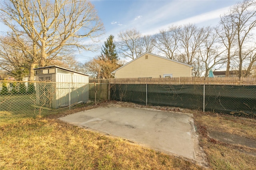
[[112, 72], [115, 78], [191, 77], [192, 65], [144, 53]]

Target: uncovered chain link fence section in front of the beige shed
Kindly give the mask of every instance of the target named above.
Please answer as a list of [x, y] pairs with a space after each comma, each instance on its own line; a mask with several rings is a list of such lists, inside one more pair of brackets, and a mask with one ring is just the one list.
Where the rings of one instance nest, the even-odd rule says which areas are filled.
[[0, 120], [36, 117], [88, 100], [88, 83], [0, 81]]

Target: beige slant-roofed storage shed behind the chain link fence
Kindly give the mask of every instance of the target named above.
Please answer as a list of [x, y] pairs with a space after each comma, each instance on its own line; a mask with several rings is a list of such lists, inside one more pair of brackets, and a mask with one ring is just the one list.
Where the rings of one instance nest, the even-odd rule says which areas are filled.
[[45, 95], [42, 98], [43, 93], [52, 95], [51, 102], [48, 103], [52, 108], [86, 103], [89, 100], [89, 75], [56, 65], [34, 70], [39, 81], [49, 82], [36, 84], [36, 94], [39, 101], [47, 97]]

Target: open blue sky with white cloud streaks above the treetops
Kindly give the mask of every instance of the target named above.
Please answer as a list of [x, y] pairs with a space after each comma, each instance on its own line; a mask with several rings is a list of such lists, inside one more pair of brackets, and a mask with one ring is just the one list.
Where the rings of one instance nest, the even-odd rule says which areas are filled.
[[[108, 36], [117, 39], [119, 32], [136, 28], [142, 35], [152, 35], [169, 26], [196, 24], [216, 26], [220, 15], [228, 12], [238, 0], [91, 0], [104, 24], [105, 34], [99, 40], [101, 48]], [[84, 51], [76, 54], [84, 63], [97, 55]]]

